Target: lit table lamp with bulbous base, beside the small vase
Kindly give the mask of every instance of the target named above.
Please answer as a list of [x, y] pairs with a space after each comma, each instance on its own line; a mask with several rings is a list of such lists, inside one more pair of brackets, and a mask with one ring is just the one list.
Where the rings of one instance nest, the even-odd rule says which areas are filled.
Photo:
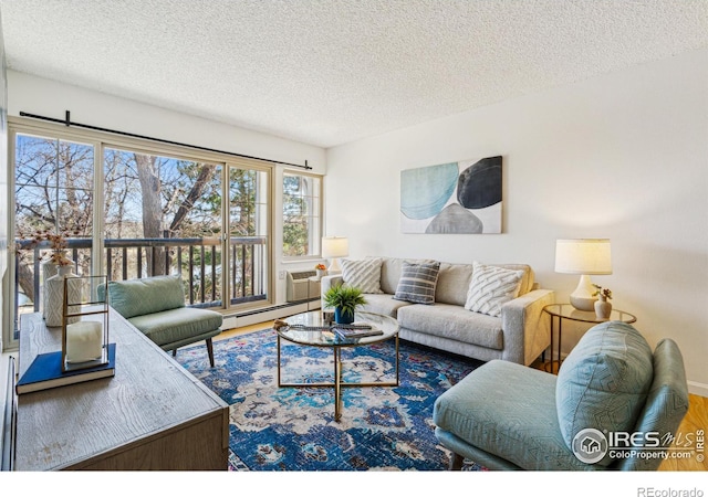
[[571, 294], [571, 305], [580, 310], [594, 310], [596, 288], [592, 274], [612, 274], [612, 254], [607, 239], [555, 241], [555, 272], [580, 274], [577, 287]]

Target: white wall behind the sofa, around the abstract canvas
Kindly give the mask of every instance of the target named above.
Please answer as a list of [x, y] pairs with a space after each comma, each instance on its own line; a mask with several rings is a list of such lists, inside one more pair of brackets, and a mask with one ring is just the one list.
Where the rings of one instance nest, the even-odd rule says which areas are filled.
[[[400, 233], [400, 170], [497, 155], [502, 234]], [[325, 184], [352, 257], [524, 262], [558, 302], [577, 277], [553, 272], [555, 240], [610, 237], [614, 274], [593, 281], [652, 345], [675, 339], [708, 395], [708, 51], [335, 147]], [[565, 352], [584, 329], [564, 325]]]

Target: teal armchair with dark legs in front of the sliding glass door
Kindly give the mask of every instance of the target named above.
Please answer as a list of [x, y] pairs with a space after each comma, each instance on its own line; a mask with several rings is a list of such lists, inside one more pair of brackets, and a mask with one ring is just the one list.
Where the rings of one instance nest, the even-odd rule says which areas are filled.
[[108, 282], [108, 304], [163, 350], [206, 340], [209, 363], [214, 368], [211, 338], [221, 332], [221, 314], [185, 307], [185, 290], [179, 276], [153, 276]]

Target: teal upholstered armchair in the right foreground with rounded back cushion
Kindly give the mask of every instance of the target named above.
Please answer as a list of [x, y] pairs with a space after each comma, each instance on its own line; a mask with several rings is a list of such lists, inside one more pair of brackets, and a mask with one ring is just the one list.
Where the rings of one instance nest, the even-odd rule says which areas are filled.
[[677, 345], [652, 352], [634, 327], [611, 321], [583, 336], [558, 377], [493, 360], [440, 395], [433, 416], [452, 469], [468, 458], [489, 469], [648, 470], [687, 411]]

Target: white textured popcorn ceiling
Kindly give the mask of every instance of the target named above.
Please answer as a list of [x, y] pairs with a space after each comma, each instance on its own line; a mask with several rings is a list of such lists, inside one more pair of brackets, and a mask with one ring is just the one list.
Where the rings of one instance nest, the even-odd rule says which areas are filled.
[[708, 46], [708, 0], [0, 0], [0, 9], [12, 70], [322, 147]]

